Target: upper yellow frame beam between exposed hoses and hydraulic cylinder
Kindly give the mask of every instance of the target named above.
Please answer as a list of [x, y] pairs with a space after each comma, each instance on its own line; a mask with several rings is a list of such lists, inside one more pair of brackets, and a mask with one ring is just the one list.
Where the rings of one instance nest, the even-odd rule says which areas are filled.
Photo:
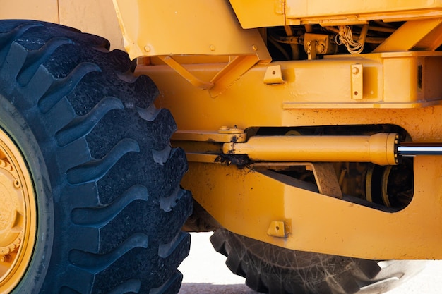
[[[385, 120], [376, 116], [371, 117], [371, 121], [367, 115], [373, 114], [365, 111], [419, 108], [442, 101], [442, 84], [437, 78], [442, 75], [441, 52], [341, 55], [320, 61], [271, 64], [281, 67], [284, 83], [266, 85], [264, 77], [268, 66], [257, 65], [215, 99], [208, 91], [193, 87], [167, 66], [142, 66], [137, 68], [137, 73], [153, 78], [161, 93], [158, 106], [171, 109], [178, 127], [183, 130], [201, 129], [201, 122], [206, 130], [214, 131], [222, 125], [248, 128], [309, 125], [318, 121], [327, 125], [334, 121], [339, 123], [344, 118], [347, 119], [341, 123], [379, 123]], [[363, 65], [362, 99], [352, 99], [353, 64]], [[222, 64], [186, 65], [186, 68], [199, 78], [209, 80], [220, 71]], [[316, 115], [328, 114], [331, 111], [328, 109], [337, 109], [336, 113], [340, 115], [329, 119]], [[397, 116], [398, 112], [386, 111], [382, 115]], [[394, 120], [392, 123], [402, 125], [405, 122]], [[422, 128], [421, 124], [417, 123], [419, 128]]]

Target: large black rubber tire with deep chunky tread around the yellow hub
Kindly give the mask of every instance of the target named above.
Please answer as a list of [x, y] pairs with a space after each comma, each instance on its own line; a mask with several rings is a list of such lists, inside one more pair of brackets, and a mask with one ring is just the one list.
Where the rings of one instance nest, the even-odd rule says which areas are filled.
[[[0, 127], [23, 153], [37, 194], [28, 271], [13, 293], [177, 293], [190, 235], [187, 166], [155, 109], [101, 37], [35, 21], [0, 22]], [[1, 292], [1, 291], [0, 291]]]

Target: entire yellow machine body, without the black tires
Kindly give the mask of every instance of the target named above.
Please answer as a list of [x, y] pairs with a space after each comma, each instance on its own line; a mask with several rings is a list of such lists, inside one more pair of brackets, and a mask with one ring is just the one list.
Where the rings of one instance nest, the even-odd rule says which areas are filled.
[[[398, 141], [442, 141], [442, 1], [111, 2], [35, 1], [33, 14], [8, 6], [0, 16], [124, 43], [177, 121], [182, 185], [229, 231], [292, 250], [442, 258], [442, 157], [412, 158], [406, 205], [373, 204], [371, 187], [382, 169], [388, 188], [390, 168], [379, 166], [400, 164]], [[347, 27], [362, 53], [342, 51]], [[292, 56], [275, 61], [282, 44]], [[292, 176], [299, 169], [314, 179]], [[361, 201], [347, 199], [358, 190], [351, 169]]]

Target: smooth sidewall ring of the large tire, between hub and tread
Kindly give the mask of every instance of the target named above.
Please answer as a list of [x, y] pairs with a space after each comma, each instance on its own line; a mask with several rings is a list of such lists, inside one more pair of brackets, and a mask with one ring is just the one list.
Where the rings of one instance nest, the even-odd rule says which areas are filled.
[[[40, 145], [28, 122], [5, 97], [0, 94], [0, 128], [11, 137], [28, 166], [35, 191], [37, 234], [28, 269], [12, 293], [40, 293], [47, 274], [54, 238], [54, 203], [49, 174]], [[32, 209], [31, 209], [32, 210]]]

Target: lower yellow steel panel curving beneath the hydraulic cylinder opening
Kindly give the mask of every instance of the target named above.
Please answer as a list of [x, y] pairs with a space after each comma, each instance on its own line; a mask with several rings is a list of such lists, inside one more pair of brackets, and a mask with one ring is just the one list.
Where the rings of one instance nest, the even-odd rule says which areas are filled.
[[[191, 163], [183, 186], [230, 231], [280, 247], [366, 259], [441, 259], [441, 173], [442, 157], [416, 157], [414, 198], [394, 213], [237, 166]], [[268, 235], [273, 221], [287, 224], [287, 238]]]

